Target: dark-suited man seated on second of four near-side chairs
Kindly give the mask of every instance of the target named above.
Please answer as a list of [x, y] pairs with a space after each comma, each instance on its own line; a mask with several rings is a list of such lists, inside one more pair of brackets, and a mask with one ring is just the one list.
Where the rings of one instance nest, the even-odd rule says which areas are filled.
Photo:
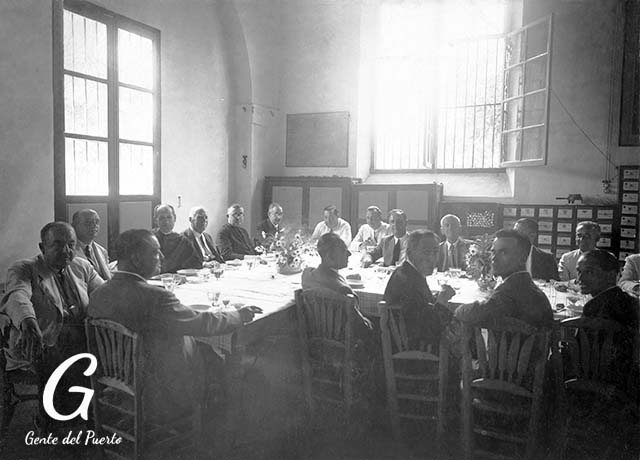
[[447, 302], [455, 295], [455, 291], [445, 285], [434, 298], [427, 284], [426, 276], [433, 273], [438, 260], [438, 240], [436, 234], [428, 230], [412, 232], [408, 237], [407, 258], [393, 272], [384, 291], [388, 304], [402, 307], [409, 340], [424, 340], [435, 345], [451, 319]]

